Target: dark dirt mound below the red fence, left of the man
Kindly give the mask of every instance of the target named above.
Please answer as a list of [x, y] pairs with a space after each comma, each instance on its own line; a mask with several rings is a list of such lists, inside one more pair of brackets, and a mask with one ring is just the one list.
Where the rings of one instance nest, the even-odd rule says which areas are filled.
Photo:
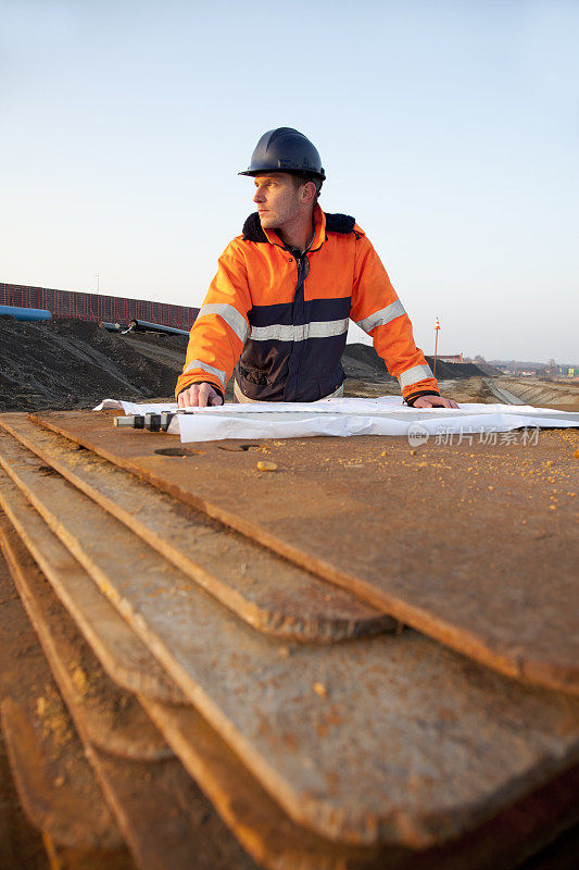
[[175, 371], [96, 323], [0, 320], [0, 410], [88, 408], [106, 396], [172, 396]]

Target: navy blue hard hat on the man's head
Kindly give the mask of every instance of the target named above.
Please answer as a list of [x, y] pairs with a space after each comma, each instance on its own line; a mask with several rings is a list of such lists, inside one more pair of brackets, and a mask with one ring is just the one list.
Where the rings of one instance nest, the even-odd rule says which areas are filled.
[[264, 133], [251, 156], [251, 164], [240, 175], [261, 172], [289, 172], [293, 175], [326, 178], [317, 148], [293, 127], [277, 127]]

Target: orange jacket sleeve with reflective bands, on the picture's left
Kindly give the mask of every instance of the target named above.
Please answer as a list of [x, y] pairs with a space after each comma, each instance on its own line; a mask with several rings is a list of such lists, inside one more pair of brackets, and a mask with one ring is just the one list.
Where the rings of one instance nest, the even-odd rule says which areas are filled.
[[217, 274], [191, 327], [176, 396], [202, 382], [223, 396], [249, 335], [250, 308], [246, 262], [234, 240], [219, 258]]

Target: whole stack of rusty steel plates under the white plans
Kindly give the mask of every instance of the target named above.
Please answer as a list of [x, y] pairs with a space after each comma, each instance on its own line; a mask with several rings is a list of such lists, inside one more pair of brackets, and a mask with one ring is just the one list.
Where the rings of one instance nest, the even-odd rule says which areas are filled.
[[54, 867], [508, 870], [577, 822], [579, 433], [113, 415], [0, 415], [2, 726]]

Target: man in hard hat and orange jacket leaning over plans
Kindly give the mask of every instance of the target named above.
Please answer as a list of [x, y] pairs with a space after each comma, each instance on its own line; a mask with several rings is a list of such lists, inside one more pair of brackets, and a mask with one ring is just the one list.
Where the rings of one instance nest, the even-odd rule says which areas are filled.
[[317, 204], [326, 178], [316, 148], [290, 127], [265, 133], [251, 165], [257, 213], [219, 259], [191, 328], [180, 408], [222, 405], [235, 368], [237, 401], [315, 401], [342, 395], [349, 319], [372, 335], [416, 408], [440, 396], [412, 324], [353, 217]]

